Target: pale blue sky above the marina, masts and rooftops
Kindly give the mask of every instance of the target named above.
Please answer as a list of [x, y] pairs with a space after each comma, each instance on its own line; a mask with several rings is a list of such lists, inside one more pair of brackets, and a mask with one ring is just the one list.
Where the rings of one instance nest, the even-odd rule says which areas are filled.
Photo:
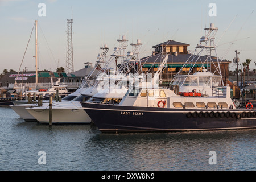
[[[39, 3], [45, 3], [46, 16], [39, 17]], [[210, 3], [216, 3], [216, 17], [210, 17]], [[84, 63], [96, 63], [100, 47], [107, 44], [109, 53], [118, 46], [122, 35], [130, 43], [139, 38], [141, 57], [152, 54], [152, 46], [167, 40], [188, 43], [193, 51], [204, 36], [203, 28], [215, 23], [219, 57], [232, 61], [236, 49], [240, 63], [252, 59], [256, 68], [255, 0], [0, 0], [0, 73], [19, 70], [35, 20], [38, 20], [39, 69], [65, 68], [67, 19], [73, 10], [73, 56], [75, 71]], [[230, 25], [231, 24], [231, 25]], [[230, 26], [229, 26], [230, 25]], [[232, 43], [230, 43], [232, 42]], [[231, 47], [230, 47], [231, 46]], [[129, 47], [127, 51], [131, 51]], [[35, 70], [35, 34], [32, 34], [21, 70]], [[225, 56], [226, 55], [226, 56]]]

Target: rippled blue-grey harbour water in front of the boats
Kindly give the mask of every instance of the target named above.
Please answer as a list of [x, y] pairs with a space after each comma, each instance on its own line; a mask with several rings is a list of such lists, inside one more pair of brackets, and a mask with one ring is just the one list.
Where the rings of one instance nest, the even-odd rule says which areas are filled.
[[9, 107], [0, 107], [0, 122], [0, 170], [256, 170], [256, 130], [102, 134], [94, 125], [25, 122]]

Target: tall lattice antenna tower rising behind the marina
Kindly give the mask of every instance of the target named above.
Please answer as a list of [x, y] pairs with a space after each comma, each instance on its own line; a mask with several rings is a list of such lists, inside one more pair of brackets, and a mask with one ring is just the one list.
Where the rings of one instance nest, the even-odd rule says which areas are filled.
[[74, 72], [74, 60], [73, 60], [73, 43], [72, 43], [72, 19], [67, 19], [67, 53], [66, 53], [66, 72]]

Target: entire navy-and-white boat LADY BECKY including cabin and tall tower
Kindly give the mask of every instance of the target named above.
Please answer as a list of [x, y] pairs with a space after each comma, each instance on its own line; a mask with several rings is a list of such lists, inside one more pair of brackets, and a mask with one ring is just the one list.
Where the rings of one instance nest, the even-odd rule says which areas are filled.
[[[196, 46], [197, 55], [192, 54], [183, 65], [184, 68], [189, 65], [190, 71], [187, 75], [178, 72], [168, 88], [160, 87], [156, 81], [168, 59], [168, 55], [163, 55], [154, 81], [141, 82], [130, 88], [118, 105], [81, 102], [98, 129], [102, 132], [137, 132], [256, 128], [256, 110], [250, 104], [237, 109], [230, 98], [229, 85], [224, 86], [221, 60], [214, 43], [218, 28], [211, 23], [205, 30], [207, 34]], [[203, 51], [206, 56], [201, 56]], [[192, 74], [197, 63], [202, 67]]]

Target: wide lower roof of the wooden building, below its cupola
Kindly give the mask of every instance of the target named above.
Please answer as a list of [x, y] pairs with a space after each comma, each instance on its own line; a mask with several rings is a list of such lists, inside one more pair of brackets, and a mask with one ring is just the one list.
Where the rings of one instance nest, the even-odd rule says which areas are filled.
[[[161, 54], [151, 55], [147, 57], [143, 57], [141, 59], [142, 64], [160, 64], [161, 63], [162, 56]], [[192, 63], [195, 63], [195, 61], [199, 59], [199, 56], [197, 55], [191, 55], [191, 54], [178, 54], [175, 55], [168, 55], [167, 64], [184, 64], [187, 60], [192, 61]], [[204, 60], [207, 59], [207, 56], [200, 56], [200, 59], [204, 62]], [[212, 56], [213, 62], [217, 63], [216, 57]], [[231, 61], [227, 60], [220, 60], [222, 64], [229, 64]]]

